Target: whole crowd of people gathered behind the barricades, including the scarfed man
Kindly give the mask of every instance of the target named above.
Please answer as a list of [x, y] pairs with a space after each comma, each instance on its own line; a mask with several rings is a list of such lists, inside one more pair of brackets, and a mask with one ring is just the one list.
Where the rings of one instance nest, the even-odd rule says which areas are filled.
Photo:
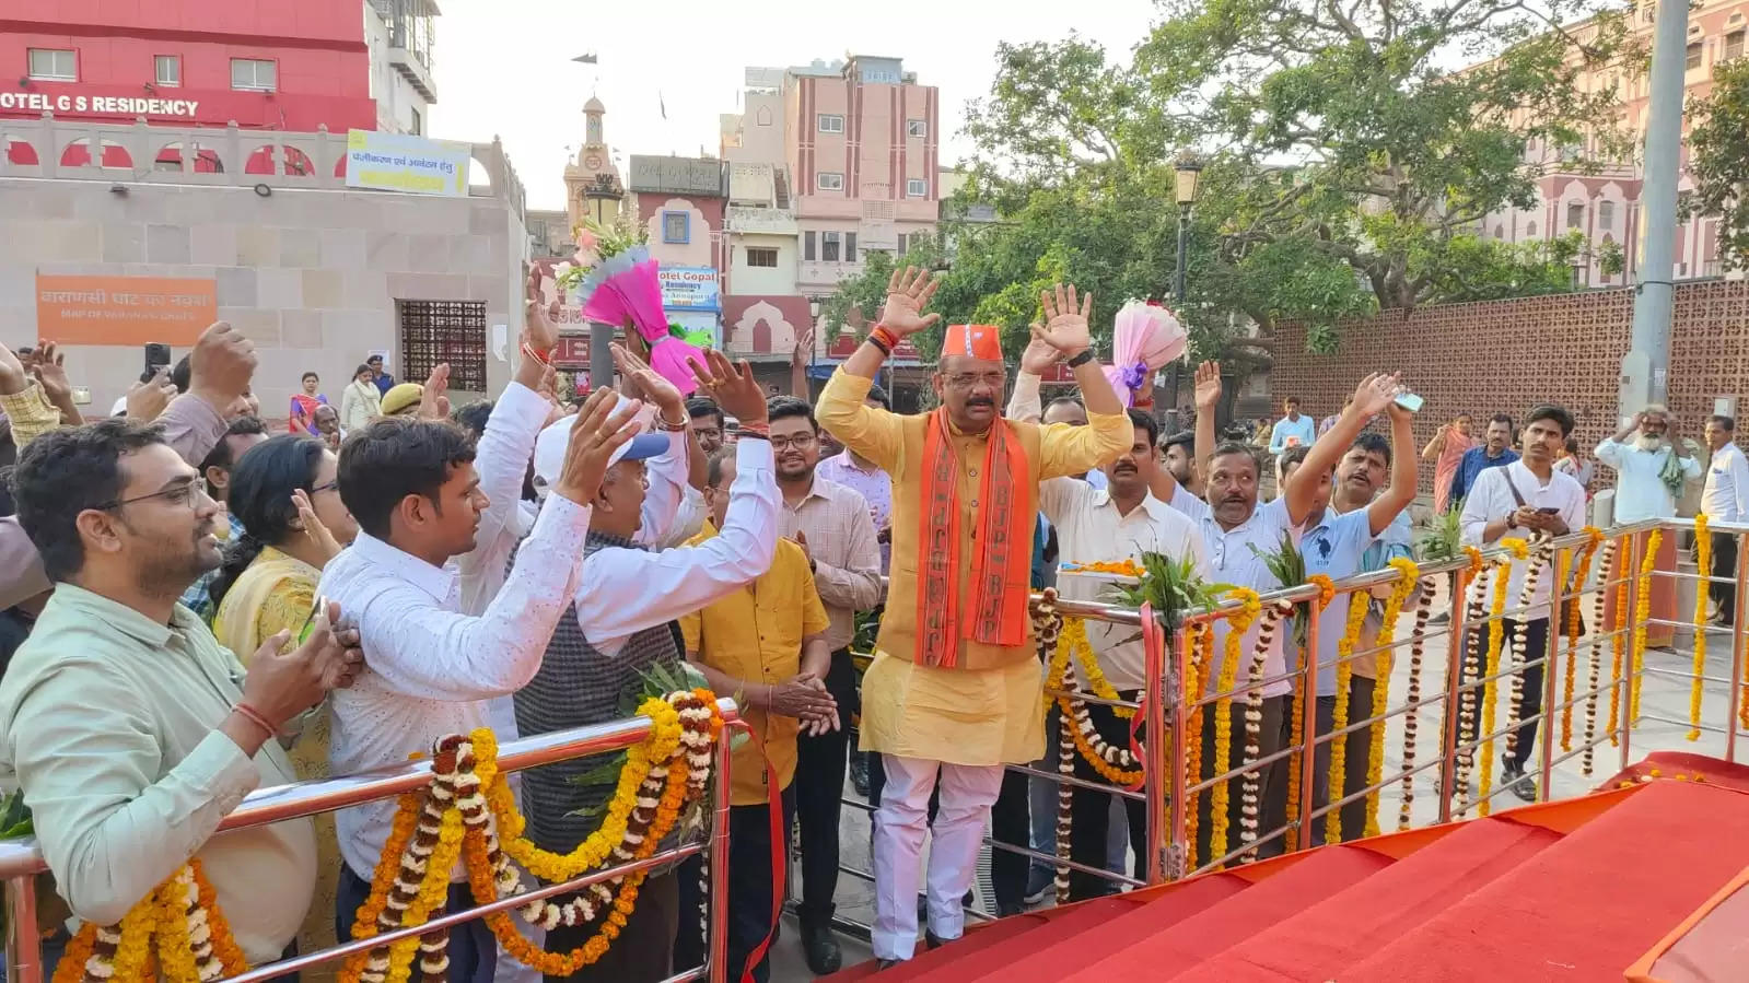
[[[539, 287], [537, 276], [530, 296]], [[1380, 570], [1411, 553], [1422, 462], [1434, 465], [1434, 507], [1459, 512], [1471, 544], [1586, 525], [1593, 465], [1560, 406], [1536, 406], [1522, 423], [1494, 415], [1480, 441], [1462, 415], [1417, 446], [1401, 380], [1371, 374], [1319, 423], [1287, 399], [1259, 448], [1216, 432], [1221, 371], [1205, 362], [1186, 415], [1195, 425], [1163, 432], [1093, 359], [1093, 299], [1074, 287], [1041, 297], [1013, 381], [995, 327], [948, 325], [939, 406], [897, 415], [874, 380], [906, 336], [939, 322], [925, 313], [934, 289], [923, 273], [895, 271], [880, 324], [817, 402], [805, 380], [771, 395], [715, 352], [677, 385], [635, 341], [612, 350], [617, 390], [560, 399], [558, 332], [535, 303], [495, 401], [451, 413], [446, 367], [423, 385], [395, 383], [373, 355], [338, 409], [306, 373], [287, 432], [271, 436], [250, 395], [254, 346], [226, 324], [94, 422], [66, 399], [52, 345], [23, 357], [0, 346], [0, 411], [16, 448], [0, 518], [0, 785], [23, 789], [68, 913], [114, 924], [198, 855], [250, 962], [331, 946], [352, 938], [394, 803], [215, 836], [245, 794], [401, 763], [472, 728], [511, 740], [607, 722], [661, 668], [733, 694], [759, 738], [733, 752], [733, 973], [768, 978], [771, 864], [791, 852], [792, 827], [806, 962], [820, 974], [840, 967], [847, 773], [874, 808], [873, 950], [890, 966], [915, 955], [920, 929], [930, 948], [960, 938], [986, 829], [1056, 850], [1055, 784], [1007, 766], [1056, 757], [1028, 595], [1060, 567], [1158, 553], [1261, 593], [1284, 586], [1266, 554], [1286, 540], [1307, 574]], [[1060, 362], [1076, 395], [1044, 402], [1042, 376]], [[1749, 518], [1733, 429], [1714, 416], [1705, 432], [1705, 509], [1721, 521]], [[1275, 458], [1272, 500], [1261, 450]], [[1593, 457], [1618, 474], [1621, 521], [1674, 514], [1702, 471], [1662, 408]], [[1726, 577], [1732, 542], [1712, 551]], [[1515, 591], [1522, 577], [1515, 568]], [[1509, 624], [1532, 647], [1548, 638], [1548, 591], [1543, 579]], [[1670, 602], [1655, 591], [1655, 614]], [[1723, 591], [1723, 617], [1728, 602]], [[1380, 600], [1352, 603], [1368, 603], [1359, 649], [1369, 651]], [[1266, 677], [1315, 659], [1324, 735], [1338, 679], [1350, 707], [1373, 703], [1371, 658], [1336, 672], [1348, 605], [1341, 596], [1322, 610], [1315, 652], [1291, 631], [1266, 651]], [[859, 680], [850, 645], [868, 616], [878, 638]], [[1216, 623], [1217, 654], [1224, 631]], [[1258, 633], [1245, 630], [1242, 651]], [[1135, 700], [1147, 686], [1142, 645], [1104, 630], [1090, 642], [1118, 696]], [[1541, 693], [1527, 679], [1525, 717]], [[1293, 700], [1286, 679], [1263, 687], [1261, 759], [1298, 742]], [[1105, 740], [1128, 738], [1111, 707], [1090, 705], [1090, 717]], [[1217, 735], [1210, 714], [1193, 740], [1209, 761], [1235, 733]], [[1371, 754], [1364, 728], [1336, 740], [1350, 763]], [[1504, 761], [1504, 784], [1527, 799], [1534, 740], [1525, 724]], [[1320, 763], [1329, 749], [1319, 745]], [[595, 831], [607, 791], [582, 780], [593, 768], [521, 775], [537, 847], [563, 854]], [[1084, 759], [1076, 768], [1102, 782]], [[1261, 826], [1279, 829], [1286, 766], [1259, 768]], [[1350, 764], [1348, 787], [1331, 789], [1327, 766], [1315, 766], [1313, 806], [1352, 796], [1366, 773]], [[1202, 796], [1198, 836], [1200, 855], [1216, 859], [1210, 801]], [[1240, 796], [1228, 808], [1237, 826]], [[1116, 890], [1091, 871], [1142, 876], [1158, 833], [1142, 803], [1077, 785], [1072, 817], [1070, 897]], [[1354, 836], [1362, 822], [1341, 829]], [[1259, 852], [1280, 848], [1270, 838]], [[651, 873], [607, 955], [570, 980], [661, 980], [698, 964], [698, 862]], [[1002, 850], [993, 868], [1002, 915], [1037, 903], [1053, 873]], [[472, 904], [460, 871], [448, 903]], [[570, 950], [593, 927], [525, 932]], [[458, 983], [533, 974], [481, 922], [451, 932], [448, 973]]]

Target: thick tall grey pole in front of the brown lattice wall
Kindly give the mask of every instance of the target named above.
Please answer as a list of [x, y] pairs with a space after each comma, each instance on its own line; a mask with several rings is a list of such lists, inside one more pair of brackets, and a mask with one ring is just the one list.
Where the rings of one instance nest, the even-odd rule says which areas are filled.
[[1670, 388], [1670, 315], [1676, 310], [1676, 184], [1681, 180], [1683, 87], [1688, 72], [1688, 2], [1663, 0], [1651, 42], [1646, 180], [1641, 184], [1641, 264], [1634, 339], [1621, 359], [1621, 416], [1663, 402]]

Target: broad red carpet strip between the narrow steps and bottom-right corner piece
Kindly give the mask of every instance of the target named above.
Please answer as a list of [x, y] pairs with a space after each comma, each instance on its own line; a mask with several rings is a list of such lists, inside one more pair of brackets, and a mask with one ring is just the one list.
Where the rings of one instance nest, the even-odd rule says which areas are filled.
[[[1620, 980], [1749, 864], [1749, 796], [1651, 782], [1420, 929], [1343, 983]], [[1511, 967], [1508, 971], [1508, 967]]]

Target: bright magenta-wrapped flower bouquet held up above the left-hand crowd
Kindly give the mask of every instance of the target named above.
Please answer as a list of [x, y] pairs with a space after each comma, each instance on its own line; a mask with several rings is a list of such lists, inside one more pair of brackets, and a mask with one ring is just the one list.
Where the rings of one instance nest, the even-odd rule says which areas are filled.
[[680, 395], [698, 388], [687, 369], [687, 357], [703, 362], [705, 353], [686, 341], [679, 325], [668, 324], [661, 306], [658, 262], [644, 245], [640, 226], [621, 217], [612, 226], [584, 222], [577, 231], [575, 262], [561, 262], [556, 280], [574, 290], [584, 320], [614, 324], [637, 336], [649, 348], [649, 364], [672, 381]]

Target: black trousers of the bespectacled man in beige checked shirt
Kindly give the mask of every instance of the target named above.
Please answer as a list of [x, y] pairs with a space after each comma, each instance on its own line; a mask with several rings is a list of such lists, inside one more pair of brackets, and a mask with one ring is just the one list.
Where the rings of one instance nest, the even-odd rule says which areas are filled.
[[838, 817], [850, 761], [850, 719], [857, 712], [857, 672], [850, 649], [833, 652], [826, 689], [838, 701], [836, 731], [796, 738], [796, 819], [801, 826], [801, 920], [829, 929], [838, 894]]

